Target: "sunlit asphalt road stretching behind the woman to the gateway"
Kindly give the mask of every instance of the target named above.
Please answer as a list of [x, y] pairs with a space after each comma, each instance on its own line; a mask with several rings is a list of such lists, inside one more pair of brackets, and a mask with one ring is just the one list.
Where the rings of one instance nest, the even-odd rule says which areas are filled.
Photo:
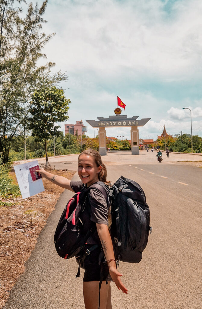
[[[128, 295], [112, 283], [113, 309], [200, 309], [202, 308], [202, 168], [184, 165], [182, 160], [201, 157], [172, 155], [158, 163], [155, 153], [139, 156], [107, 155], [107, 179], [120, 175], [138, 182], [144, 189], [153, 226], [139, 264], [120, 262]], [[194, 157], [194, 158], [193, 158]], [[197, 158], [196, 158], [197, 157]], [[75, 169], [77, 155], [56, 160], [57, 168]], [[179, 162], [177, 162], [179, 161]], [[176, 163], [177, 162], [177, 163]], [[74, 179], [78, 176], [75, 174]], [[25, 273], [11, 291], [6, 308], [80, 309], [82, 275], [75, 278], [77, 264], [57, 256], [54, 230], [71, 192], [65, 191], [41, 232]], [[83, 273], [83, 272], [82, 272]]]

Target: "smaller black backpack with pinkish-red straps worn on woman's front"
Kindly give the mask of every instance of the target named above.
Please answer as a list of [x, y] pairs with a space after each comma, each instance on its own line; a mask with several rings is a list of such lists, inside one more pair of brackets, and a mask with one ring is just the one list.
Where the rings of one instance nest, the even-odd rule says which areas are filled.
[[[88, 193], [92, 188], [99, 188], [104, 197], [108, 198], [106, 191], [109, 190], [107, 190], [107, 186], [100, 181], [92, 184], [88, 188], [83, 187], [81, 192], [77, 192], [68, 201], [58, 222], [54, 235], [54, 243], [58, 255], [64, 259], [77, 256], [79, 252], [82, 252], [88, 238], [95, 232], [96, 225], [92, 222], [87, 234], [84, 235], [82, 233], [82, 221], [80, 219], [81, 212], [88, 206], [86, 205], [86, 201], [88, 201]], [[92, 246], [93, 249], [96, 247], [98, 246]]]

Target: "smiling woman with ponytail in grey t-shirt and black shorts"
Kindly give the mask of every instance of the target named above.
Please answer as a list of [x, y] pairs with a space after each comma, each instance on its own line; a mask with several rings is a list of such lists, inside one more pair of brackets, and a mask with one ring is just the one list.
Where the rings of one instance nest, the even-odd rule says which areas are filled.
[[[79, 155], [78, 175], [81, 181], [70, 181], [65, 177], [48, 173], [44, 169], [36, 171], [62, 188], [86, 194], [84, 205], [81, 205], [83, 210], [79, 219], [82, 222], [81, 234], [89, 235], [89, 237], [85, 248], [75, 256], [78, 265], [85, 270], [83, 278], [85, 308], [112, 309], [110, 281], [114, 281], [123, 293], [127, 294], [128, 290], [120, 280], [122, 274], [116, 269], [112, 239], [108, 230], [110, 203], [109, 188], [106, 184], [109, 182], [107, 181], [107, 169], [102, 163], [101, 156], [92, 149], [84, 150]], [[90, 189], [90, 186], [95, 183], [97, 183], [96, 188], [94, 186]], [[89, 233], [89, 231], [92, 232]], [[109, 284], [106, 284], [104, 280]], [[100, 298], [99, 283], [101, 285]]]

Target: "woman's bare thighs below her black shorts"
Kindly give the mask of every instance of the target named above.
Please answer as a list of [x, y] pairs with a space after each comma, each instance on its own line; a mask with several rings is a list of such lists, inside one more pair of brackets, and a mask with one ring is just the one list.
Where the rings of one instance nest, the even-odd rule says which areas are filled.
[[[102, 282], [100, 290], [100, 309], [111, 309], [107, 307], [108, 292], [110, 288], [110, 282], [106, 284], [106, 281]], [[99, 306], [99, 281], [83, 282], [83, 298], [86, 309], [98, 309]], [[111, 300], [111, 290], [110, 290]]]

